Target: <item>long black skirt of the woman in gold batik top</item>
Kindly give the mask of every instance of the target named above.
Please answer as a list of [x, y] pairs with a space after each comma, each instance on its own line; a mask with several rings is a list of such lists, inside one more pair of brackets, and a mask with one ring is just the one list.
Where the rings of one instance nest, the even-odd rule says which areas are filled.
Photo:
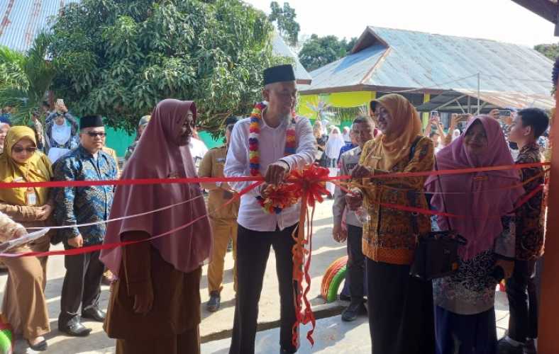
[[409, 276], [409, 265], [367, 258], [372, 354], [435, 353], [433, 288]]

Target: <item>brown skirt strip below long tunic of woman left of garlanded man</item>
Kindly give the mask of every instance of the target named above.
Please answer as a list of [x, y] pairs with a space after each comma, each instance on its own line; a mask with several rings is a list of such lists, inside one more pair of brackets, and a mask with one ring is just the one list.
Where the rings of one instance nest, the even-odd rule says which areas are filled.
[[117, 339], [116, 354], [199, 354], [198, 326], [177, 336], [157, 338]]

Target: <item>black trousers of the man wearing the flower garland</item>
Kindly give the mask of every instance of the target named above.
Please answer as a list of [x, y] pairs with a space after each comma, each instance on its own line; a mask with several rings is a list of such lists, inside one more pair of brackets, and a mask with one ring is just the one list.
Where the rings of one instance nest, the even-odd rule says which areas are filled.
[[[297, 224], [283, 231], [257, 232], [239, 225], [236, 259], [237, 297], [230, 354], [254, 353], [258, 301], [270, 246], [275, 251], [277, 279], [280, 283], [280, 346], [291, 353], [297, 351], [292, 344], [293, 325], [297, 320], [294, 296], [297, 283], [293, 281], [292, 260], [292, 248], [295, 244], [292, 233], [296, 228]], [[274, 350], [270, 350], [272, 351]]]

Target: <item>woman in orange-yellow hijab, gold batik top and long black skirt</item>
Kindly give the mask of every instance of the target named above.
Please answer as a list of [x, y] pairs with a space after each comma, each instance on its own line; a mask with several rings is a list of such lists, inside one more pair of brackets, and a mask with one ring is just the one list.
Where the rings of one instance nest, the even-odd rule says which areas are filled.
[[[381, 203], [426, 208], [424, 177], [370, 178], [377, 174], [433, 169], [433, 142], [421, 135], [414, 105], [392, 93], [371, 102], [382, 135], [362, 149], [352, 171], [350, 210], [363, 205], [362, 250], [367, 260], [369, 326], [373, 354], [434, 353], [435, 334], [431, 282], [409, 275], [416, 249], [411, 212]], [[425, 215], [417, 215], [417, 231], [431, 231]]]

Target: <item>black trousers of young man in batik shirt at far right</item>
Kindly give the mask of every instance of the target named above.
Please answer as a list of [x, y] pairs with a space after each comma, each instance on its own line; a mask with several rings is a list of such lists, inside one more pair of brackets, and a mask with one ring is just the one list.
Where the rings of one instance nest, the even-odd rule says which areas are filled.
[[538, 338], [536, 261], [515, 261], [514, 272], [507, 279], [509, 337], [522, 343], [527, 338]]

